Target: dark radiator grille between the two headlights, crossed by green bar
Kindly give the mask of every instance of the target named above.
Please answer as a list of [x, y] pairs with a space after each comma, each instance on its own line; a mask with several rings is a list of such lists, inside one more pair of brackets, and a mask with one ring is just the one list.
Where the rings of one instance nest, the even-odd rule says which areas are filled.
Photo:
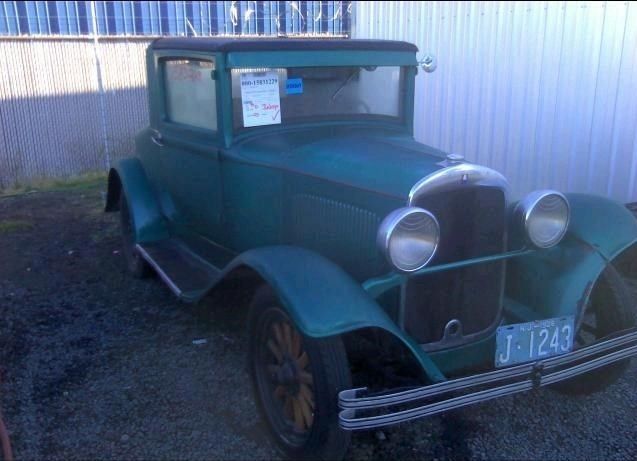
[[[461, 188], [423, 196], [415, 205], [431, 211], [440, 223], [440, 244], [431, 266], [504, 250], [506, 204], [501, 189]], [[464, 336], [486, 334], [501, 312], [503, 265], [496, 261], [411, 278], [404, 291], [405, 328], [421, 344], [441, 341], [452, 319], [461, 322]]]

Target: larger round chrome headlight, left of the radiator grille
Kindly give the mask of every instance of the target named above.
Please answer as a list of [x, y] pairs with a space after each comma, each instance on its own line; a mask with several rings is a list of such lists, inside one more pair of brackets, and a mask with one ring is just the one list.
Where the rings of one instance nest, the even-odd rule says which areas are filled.
[[392, 211], [378, 230], [378, 245], [389, 263], [401, 272], [414, 272], [431, 261], [440, 226], [427, 210], [405, 207]]

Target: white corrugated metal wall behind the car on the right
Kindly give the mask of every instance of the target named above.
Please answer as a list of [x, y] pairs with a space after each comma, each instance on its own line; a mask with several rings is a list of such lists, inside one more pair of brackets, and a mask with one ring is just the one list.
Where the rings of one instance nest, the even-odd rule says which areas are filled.
[[354, 38], [414, 42], [416, 138], [536, 188], [637, 201], [637, 4], [355, 2]]

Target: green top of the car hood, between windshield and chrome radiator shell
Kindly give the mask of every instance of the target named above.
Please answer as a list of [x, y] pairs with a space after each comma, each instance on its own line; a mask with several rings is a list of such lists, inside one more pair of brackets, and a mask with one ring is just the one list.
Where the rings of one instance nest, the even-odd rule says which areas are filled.
[[239, 143], [238, 159], [406, 198], [442, 168], [445, 154], [395, 131], [323, 127], [260, 135]]

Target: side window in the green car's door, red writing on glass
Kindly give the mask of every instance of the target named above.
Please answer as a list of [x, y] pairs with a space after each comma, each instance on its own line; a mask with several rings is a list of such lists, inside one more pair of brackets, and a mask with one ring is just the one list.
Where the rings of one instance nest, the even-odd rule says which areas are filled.
[[180, 58], [165, 59], [161, 63], [168, 120], [216, 131], [214, 62]]

